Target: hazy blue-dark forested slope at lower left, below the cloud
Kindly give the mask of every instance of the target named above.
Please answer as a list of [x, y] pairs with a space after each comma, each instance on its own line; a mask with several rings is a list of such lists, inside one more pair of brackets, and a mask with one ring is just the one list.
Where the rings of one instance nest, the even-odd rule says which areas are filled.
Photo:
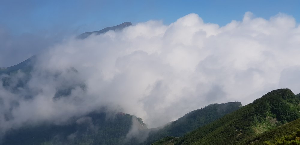
[[126, 135], [132, 125], [146, 129], [140, 118], [119, 113], [93, 112], [73, 118], [66, 124], [42, 123], [8, 132], [3, 145], [73, 145], [73, 144], [137, 144], [136, 138]]

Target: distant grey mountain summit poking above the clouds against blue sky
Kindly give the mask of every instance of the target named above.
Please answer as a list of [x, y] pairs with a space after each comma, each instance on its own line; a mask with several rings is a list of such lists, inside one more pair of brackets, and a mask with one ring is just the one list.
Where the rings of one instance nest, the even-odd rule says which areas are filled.
[[117, 26], [113, 26], [113, 27], [106, 27], [100, 31], [93, 31], [93, 32], [85, 32], [85, 33], [82, 33], [80, 34], [79, 36], [77, 36], [77, 38], [79, 39], [85, 39], [87, 38], [88, 36], [92, 35], [92, 34], [96, 34], [96, 35], [100, 35], [100, 34], [103, 34], [103, 33], [106, 33], [107, 31], [109, 30], [122, 30], [128, 26], [132, 26], [131, 22], [124, 22], [122, 24], [119, 24]]

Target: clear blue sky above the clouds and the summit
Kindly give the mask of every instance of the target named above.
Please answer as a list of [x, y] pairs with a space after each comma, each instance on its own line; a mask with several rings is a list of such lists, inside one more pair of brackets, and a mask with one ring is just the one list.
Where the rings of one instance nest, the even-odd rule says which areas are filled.
[[79, 34], [125, 21], [135, 24], [150, 19], [170, 24], [189, 13], [220, 26], [241, 20], [247, 11], [266, 19], [281, 12], [293, 16], [297, 23], [300, 20], [297, 0], [2, 0], [1, 3], [0, 26], [14, 34], [53, 30]]

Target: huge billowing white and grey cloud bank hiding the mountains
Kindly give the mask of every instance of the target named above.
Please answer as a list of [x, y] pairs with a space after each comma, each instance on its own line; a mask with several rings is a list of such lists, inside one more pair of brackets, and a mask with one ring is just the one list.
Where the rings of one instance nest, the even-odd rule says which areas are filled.
[[299, 25], [282, 13], [266, 20], [247, 12], [223, 27], [191, 13], [170, 25], [150, 20], [71, 38], [38, 56], [25, 87], [13, 81], [22, 72], [0, 86], [0, 130], [61, 124], [101, 107], [158, 127], [211, 103], [299, 93], [299, 46]]

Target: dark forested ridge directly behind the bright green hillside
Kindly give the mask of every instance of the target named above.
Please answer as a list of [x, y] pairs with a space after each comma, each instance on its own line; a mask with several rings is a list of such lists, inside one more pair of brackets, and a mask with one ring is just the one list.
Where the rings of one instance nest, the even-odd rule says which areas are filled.
[[210, 104], [202, 109], [191, 111], [158, 131], [152, 129], [153, 131], [149, 133], [148, 143], [146, 144], [153, 143], [166, 136], [182, 136], [239, 108], [241, 108], [241, 102], [229, 102]]

